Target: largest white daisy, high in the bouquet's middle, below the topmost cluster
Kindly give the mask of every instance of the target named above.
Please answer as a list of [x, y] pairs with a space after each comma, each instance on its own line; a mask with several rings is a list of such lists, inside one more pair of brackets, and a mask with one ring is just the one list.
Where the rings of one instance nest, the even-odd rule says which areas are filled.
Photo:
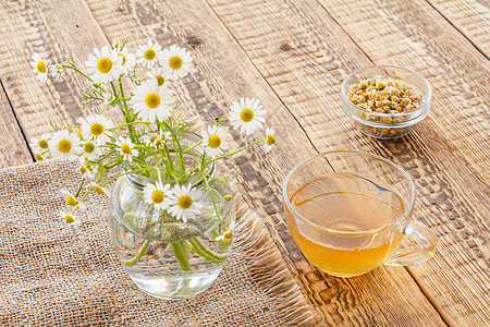
[[172, 113], [172, 95], [167, 84], [158, 86], [157, 80], [150, 80], [136, 87], [130, 105], [143, 121], [162, 121]]

